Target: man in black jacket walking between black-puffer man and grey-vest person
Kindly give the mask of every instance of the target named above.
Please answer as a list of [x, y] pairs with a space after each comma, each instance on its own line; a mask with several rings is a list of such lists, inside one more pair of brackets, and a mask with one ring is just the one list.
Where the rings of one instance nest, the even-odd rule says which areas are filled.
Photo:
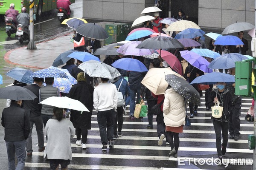
[[39, 89], [44, 81], [43, 78], [34, 77], [34, 82], [31, 85], [24, 86], [24, 88], [32, 91], [37, 98], [34, 100], [24, 100], [23, 109], [30, 110], [29, 122], [30, 122], [30, 133], [26, 141], [27, 156], [32, 156], [32, 129], [35, 123], [36, 132], [38, 135], [38, 152], [44, 151], [44, 131], [43, 131], [43, 119], [41, 116], [42, 105], [39, 104]]

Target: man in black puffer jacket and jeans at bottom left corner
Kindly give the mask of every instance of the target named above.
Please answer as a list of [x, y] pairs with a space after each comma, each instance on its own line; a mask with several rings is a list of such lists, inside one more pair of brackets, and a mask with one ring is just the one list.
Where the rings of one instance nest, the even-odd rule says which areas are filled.
[[8, 153], [9, 170], [15, 169], [15, 153], [17, 156], [16, 170], [23, 170], [26, 159], [26, 139], [29, 137], [29, 115], [21, 108], [22, 101], [12, 100], [10, 107], [2, 113], [4, 140]]

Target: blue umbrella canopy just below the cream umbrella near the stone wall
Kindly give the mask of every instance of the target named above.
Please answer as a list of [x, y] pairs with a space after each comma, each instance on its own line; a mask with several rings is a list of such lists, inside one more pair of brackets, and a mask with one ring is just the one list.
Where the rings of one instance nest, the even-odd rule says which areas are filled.
[[202, 37], [205, 34], [205, 32], [201, 29], [197, 28], [186, 28], [183, 31], [176, 34], [175, 39], [181, 39], [181, 38], [195, 38], [195, 37]]

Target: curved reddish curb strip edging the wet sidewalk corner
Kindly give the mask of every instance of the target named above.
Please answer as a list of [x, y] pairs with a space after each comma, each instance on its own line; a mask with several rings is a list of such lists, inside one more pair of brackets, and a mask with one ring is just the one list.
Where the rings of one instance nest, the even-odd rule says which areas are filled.
[[[41, 41], [41, 42], [39, 41], [39, 42], [37, 42], [36, 44], [40, 44], [40, 43], [47, 42], [47, 41], [50, 41], [50, 40], [55, 40], [55, 39], [58, 38], [58, 37], [67, 36], [67, 35], [70, 34], [71, 32], [72, 32], [72, 31], [66, 32], [66, 33], [62, 34], [61, 36], [58, 36], [58, 35], [57, 35], [57, 36], [55, 36], [55, 37], [50, 38], [49, 40], [43, 40], [43, 41]], [[44, 68], [37, 67], [37, 66], [23, 65], [23, 64], [19, 64], [19, 63], [15, 63], [15, 62], [11, 62], [11, 61], [10, 61], [10, 54], [12, 53], [12, 51], [15, 51], [15, 50], [17, 50], [17, 49], [24, 48], [24, 47], [26, 47], [26, 46], [18, 47], [18, 48], [15, 48], [15, 49], [12, 49], [12, 50], [8, 51], [8, 52], [4, 55], [4, 57], [3, 57], [3, 59], [5, 60], [5, 62], [7, 62], [7, 63], [9, 63], [9, 64], [12, 64], [12, 65], [19, 65], [19, 66], [23, 66], [23, 67], [27, 67], [27, 68], [44, 69]]]

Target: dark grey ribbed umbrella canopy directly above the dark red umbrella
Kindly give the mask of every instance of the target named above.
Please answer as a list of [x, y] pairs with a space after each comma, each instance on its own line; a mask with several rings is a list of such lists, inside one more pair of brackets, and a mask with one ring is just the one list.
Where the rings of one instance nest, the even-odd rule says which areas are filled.
[[172, 37], [157, 36], [151, 37], [141, 42], [136, 48], [146, 49], [168, 49], [168, 48], [183, 48], [184, 46]]

